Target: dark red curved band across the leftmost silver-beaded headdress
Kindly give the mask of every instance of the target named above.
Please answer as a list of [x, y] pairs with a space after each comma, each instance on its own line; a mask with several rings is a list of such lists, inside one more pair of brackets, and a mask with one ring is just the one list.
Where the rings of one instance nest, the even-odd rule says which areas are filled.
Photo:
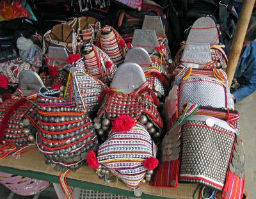
[[8, 111], [6, 111], [6, 113], [4, 113], [3, 116], [3, 120], [1, 122], [0, 125], [0, 140], [3, 140], [4, 137], [4, 133], [5, 133], [5, 129], [6, 129], [6, 125], [8, 124], [8, 121], [10, 120], [12, 113], [20, 106], [22, 106], [22, 104], [24, 104], [26, 102], [26, 98], [22, 97], [19, 100], [17, 100], [17, 102], [15, 102], [15, 104], [13, 104]]

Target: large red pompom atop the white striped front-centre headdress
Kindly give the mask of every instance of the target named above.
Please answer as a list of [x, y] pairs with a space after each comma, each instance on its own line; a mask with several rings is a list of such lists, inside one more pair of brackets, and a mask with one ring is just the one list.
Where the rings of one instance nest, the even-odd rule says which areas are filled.
[[112, 129], [115, 132], [130, 131], [134, 127], [135, 122], [131, 116], [120, 115], [113, 122]]

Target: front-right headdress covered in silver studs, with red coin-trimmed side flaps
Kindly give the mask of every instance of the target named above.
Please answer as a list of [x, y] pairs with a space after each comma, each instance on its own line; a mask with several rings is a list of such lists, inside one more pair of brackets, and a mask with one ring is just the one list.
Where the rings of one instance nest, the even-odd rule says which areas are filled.
[[240, 179], [234, 183], [239, 184], [237, 193], [241, 195], [245, 176], [244, 152], [240, 143], [237, 111], [188, 104], [163, 139], [163, 163], [154, 176], [154, 185], [177, 187], [179, 177], [183, 182], [228, 189], [233, 195], [230, 181], [234, 182], [234, 177], [232, 179], [230, 175], [235, 175]]

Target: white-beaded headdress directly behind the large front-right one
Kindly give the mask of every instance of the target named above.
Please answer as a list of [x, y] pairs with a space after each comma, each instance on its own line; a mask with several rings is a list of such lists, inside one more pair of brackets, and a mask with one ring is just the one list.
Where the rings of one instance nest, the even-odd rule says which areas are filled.
[[222, 69], [182, 67], [177, 68], [174, 75], [173, 88], [164, 103], [164, 114], [169, 127], [172, 127], [182, 107], [188, 102], [229, 109], [234, 107], [234, 101], [227, 86], [227, 75]]

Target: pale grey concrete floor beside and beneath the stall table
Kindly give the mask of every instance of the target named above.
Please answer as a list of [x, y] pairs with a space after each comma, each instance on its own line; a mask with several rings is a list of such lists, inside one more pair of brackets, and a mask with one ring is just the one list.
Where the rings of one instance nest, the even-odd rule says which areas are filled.
[[[245, 151], [246, 186], [249, 198], [256, 198], [256, 92], [236, 104], [240, 113], [241, 137]], [[10, 191], [0, 185], [0, 199], [5, 199]], [[18, 196], [15, 199], [33, 198], [33, 196]], [[43, 191], [40, 199], [58, 198], [52, 191]]]

